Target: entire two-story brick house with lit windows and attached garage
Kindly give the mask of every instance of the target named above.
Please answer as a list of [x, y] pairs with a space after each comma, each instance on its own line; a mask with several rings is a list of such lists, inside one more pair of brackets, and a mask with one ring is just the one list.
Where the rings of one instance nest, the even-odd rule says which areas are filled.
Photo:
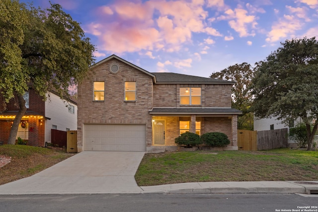
[[223, 132], [237, 150], [235, 82], [145, 71], [116, 55], [92, 67], [78, 88], [78, 150], [176, 150], [186, 131]]

